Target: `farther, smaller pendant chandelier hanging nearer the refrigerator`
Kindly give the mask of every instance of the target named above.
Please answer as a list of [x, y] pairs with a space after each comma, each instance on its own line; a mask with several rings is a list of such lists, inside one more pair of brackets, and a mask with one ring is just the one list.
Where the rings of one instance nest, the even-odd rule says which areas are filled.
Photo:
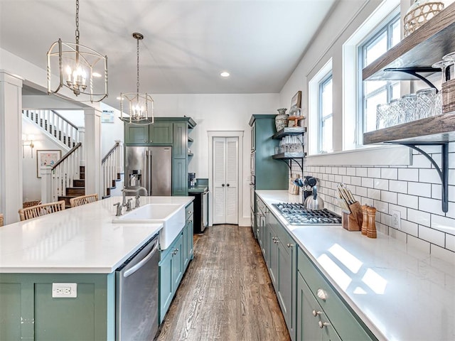
[[[150, 94], [139, 92], [139, 40], [144, 39], [141, 33], [133, 33], [137, 40], [137, 90], [136, 92], [125, 92], [120, 94], [120, 119], [129, 124], [146, 125], [154, 123], [154, 100]], [[124, 117], [125, 114], [129, 117]]]

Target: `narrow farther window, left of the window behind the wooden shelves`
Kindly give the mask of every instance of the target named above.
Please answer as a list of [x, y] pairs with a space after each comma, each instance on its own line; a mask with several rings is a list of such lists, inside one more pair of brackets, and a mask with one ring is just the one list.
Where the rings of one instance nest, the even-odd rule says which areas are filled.
[[319, 153], [333, 151], [332, 73], [319, 82]]

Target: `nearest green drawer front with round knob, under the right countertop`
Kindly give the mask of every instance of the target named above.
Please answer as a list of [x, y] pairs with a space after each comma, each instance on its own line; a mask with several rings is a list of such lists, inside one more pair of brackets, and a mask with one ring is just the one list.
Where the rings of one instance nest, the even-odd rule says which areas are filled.
[[[342, 340], [377, 340], [299, 248], [297, 269]], [[319, 295], [318, 295], [319, 291]], [[325, 299], [321, 298], [321, 293]]]

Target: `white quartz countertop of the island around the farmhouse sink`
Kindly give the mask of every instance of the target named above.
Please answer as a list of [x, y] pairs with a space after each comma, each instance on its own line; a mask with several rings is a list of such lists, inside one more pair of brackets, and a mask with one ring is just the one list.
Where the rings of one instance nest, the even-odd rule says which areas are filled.
[[[186, 206], [194, 197], [141, 197], [149, 203]], [[87, 205], [0, 227], [0, 273], [109, 274], [162, 224], [113, 224], [109, 197]], [[133, 200], [134, 205], [134, 200]]]

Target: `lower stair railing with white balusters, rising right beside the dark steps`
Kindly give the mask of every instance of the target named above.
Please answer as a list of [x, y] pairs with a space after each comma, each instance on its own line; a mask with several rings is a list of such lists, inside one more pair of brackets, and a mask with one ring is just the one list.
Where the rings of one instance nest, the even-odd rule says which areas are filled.
[[66, 188], [73, 187], [73, 180], [79, 180], [80, 156], [82, 144], [76, 144], [68, 153], [60, 158], [51, 168], [52, 170], [52, 199], [58, 201], [58, 197], [66, 195]]

